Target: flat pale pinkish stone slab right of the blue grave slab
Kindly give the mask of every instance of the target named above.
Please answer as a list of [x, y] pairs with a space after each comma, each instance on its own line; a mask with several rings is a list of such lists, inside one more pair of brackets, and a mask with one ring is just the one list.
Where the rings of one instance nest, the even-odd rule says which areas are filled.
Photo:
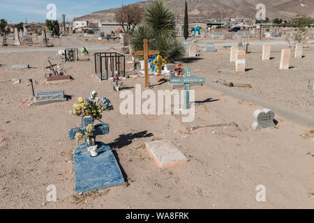
[[157, 166], [160, 168], [188, 162], [188, 158], [182, 154], [170, 141], [149, 141], [145, 143], [145, 147], [154, 158]]

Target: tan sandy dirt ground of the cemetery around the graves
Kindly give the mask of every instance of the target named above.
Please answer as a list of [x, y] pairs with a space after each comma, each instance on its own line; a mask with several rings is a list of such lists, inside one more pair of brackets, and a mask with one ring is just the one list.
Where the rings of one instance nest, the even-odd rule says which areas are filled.
[[[313, 208], [313, 139], [301, 137], [306, 132], [304, 126], [276, 116], [276, 128], [254, 131], [252, 114], [260, 106], [206, 86], [192, 87], [195, 101], [201, 105], [195, 108], [195, 121], [190, 125], [234, 121], [239, 128], [201, 128], [186, 134], [183, 123], [172, 115], [124, 116], [119, 112], [122, 101], [119, 93], [112, 90], [110, 81], [100, 82], [95, 77], [94, 51], [91, 61], [52, 61], [63, 66], [74, 79], [45, 84], [47, 57], [56, 53], [57, 49], [0, 55], [0, 79], [22, 79], [21, 84], [0, 83], [0, 208]], [[303, 69], [311, 71], [304, 60], [313, 58], [313, 54], [309, 56], [306, 52], [305, 55], [301, 60]], [[253, 70], [238, 75], [232, 74], [227, 50], [219, 50], [216, 56], [202, 53], [202, 60], [186, 66], [192, 68], [193, 75], [205, 75], [207, 81], [218, 77], [246, 80], [253, 88], [243, 91], [258, 94], [257, 84], [269, 85], [274, 78], [269, 82], [257, 78], [268, 75], [261, 73], [263, 68], [259, 63], [252, 63], [257, 57], [250, 54], [248, 68]], [[265, 63], [276, 61], [278, 58]], [[24, 63], [29, 63], [31, 68], [8, 69], [12, 64]], [[126, 66], [127, 70], [132, 69], [132, 64], [126, 63]], [[302, 66], [295, 62], [292, 66], [295, 68], [282, 74], [300, 75], [297, 69], [301, 70]], [[264, 69], [271, 71], [270, 66]], [[33, 79], [36, 92], [64, 89], [72, 99], [33, 107], [28, 78]], [[153, 91], [170, 89], [167, 83], [160, 84], [157, 80], [158, 77], [150, 79]], [[287, 86], [302, 85], [291, 81], [285, 88], [279, 88], [281, 83], [275, 82], [278, 83], [274, 86], [278, 87], [274, 89], [281, 91], [278, 95], [283, 98], [287, 95]], [[143, 83], [144, 78], [127, 79], [124, 91], [135, 93], [135, 84]], [[88, 97], [92, 90], [110, 98], [114, 106], [102, 118], [110, 124], [110, 134], [97, 140], [110, 145], [128, 184], [77, 196], [73, 191], [72, 155], [77, 141], [69, 139], [68, 129], [80, 126], [80, 118], [71, 116], [69, 110], [78, 97]], [[156, 139], [172, 141], [190, 161], [158, 168], [144, 148], [145, 141]], [[266, 202], [255, 200], [255, 188], [260, 184], [267, 188]], [[56, 202], [46, 200], [48, 185], [57, 188]]]

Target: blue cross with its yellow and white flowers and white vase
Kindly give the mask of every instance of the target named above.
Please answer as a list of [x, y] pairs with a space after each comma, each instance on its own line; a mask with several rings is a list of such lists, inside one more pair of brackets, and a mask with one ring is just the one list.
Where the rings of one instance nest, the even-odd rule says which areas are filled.
[[97, 133], [103, 133], [102, 129], [107, 128], [107, 124], [104, 124], [106, 126], [95, 126], [94, 120], [96, 119], [100, 121], [100, 118], [102, 118], [101, 113], [103, 111], [108, 111], [109, 105], [110, 100], [107, 98], [100, 100], [97, 91], [92, 91], [91, 97], [86, 98], [85, 102], [83, 98], [77, 98], [77, 102], [73, 105], [73, 109], [70, 111], [70, 114], [82, 116], [83, 125], [83, 128], [70, 129], [70, 135], [75, 133], [75, 139], [79, 141], [85, 138], [87, 151], [91, 153], [91, 157], [96, 157], [98, 155], [98, 146], [95, 144], [96, 135], [98, 135]]

